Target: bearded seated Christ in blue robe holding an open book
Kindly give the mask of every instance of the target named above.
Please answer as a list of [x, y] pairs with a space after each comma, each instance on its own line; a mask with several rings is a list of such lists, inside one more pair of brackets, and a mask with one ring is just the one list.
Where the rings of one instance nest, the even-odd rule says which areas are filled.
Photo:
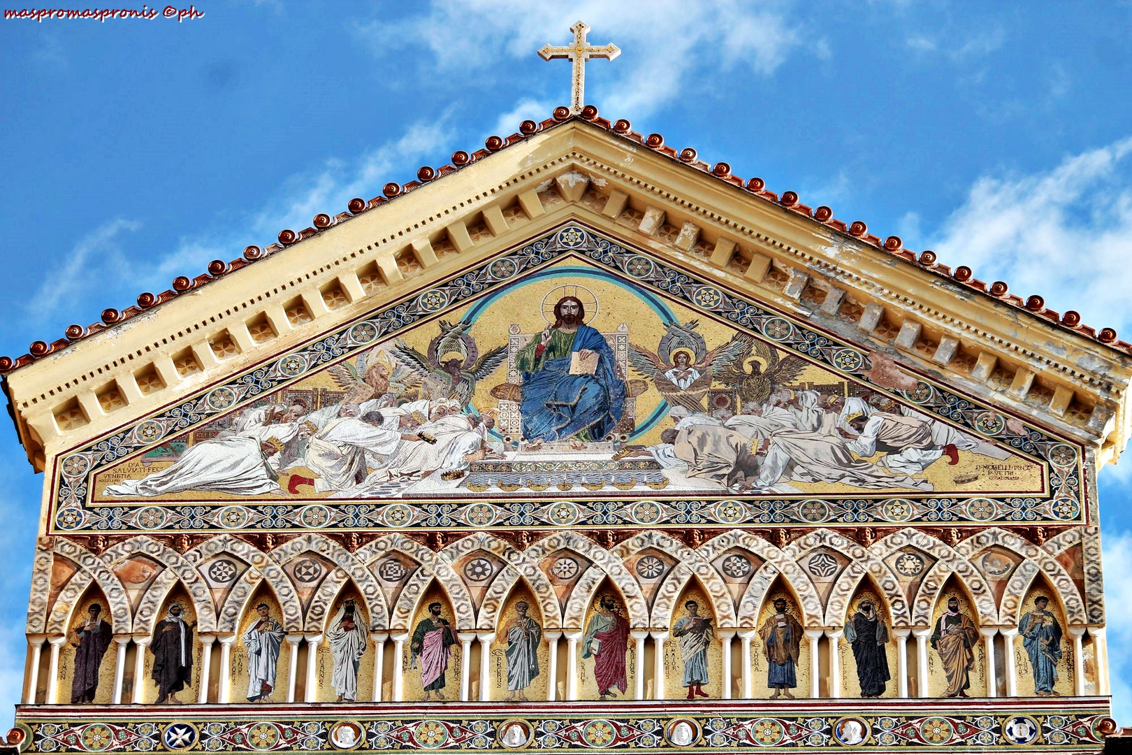
[[621, 419], [625, 380], [604, 336], [584, 320], [582, 301], [563, 297], [554, 325], [516, 354], [528, 440], [602, 440]]

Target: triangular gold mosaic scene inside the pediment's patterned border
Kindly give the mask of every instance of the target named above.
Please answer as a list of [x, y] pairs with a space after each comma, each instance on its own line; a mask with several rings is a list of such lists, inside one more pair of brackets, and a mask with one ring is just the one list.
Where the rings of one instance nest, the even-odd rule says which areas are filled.
[[1032, 460], [593, 267], [440, 314], [101, 474], [96, 499], [1044, 486]]

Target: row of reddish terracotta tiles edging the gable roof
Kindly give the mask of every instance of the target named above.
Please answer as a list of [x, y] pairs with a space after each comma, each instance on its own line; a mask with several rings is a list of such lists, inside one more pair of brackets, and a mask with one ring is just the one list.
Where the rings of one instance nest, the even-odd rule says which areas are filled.
[[834, 231], [844, 233], [852, 237], [859, 241], [868, 243], [876, 247], [878, 250], [898, 257], [909, 264], [916, 265], [925, 271], [928, 271], [941, 277], [949, 278], [950, 281], [957, 282], [960, 285], [974, 289], [984, 293], [985, 295], [993, 297], [998, 301], [1005, 302], [1017, 309], [1021, 309], [1032, 316], [1040, 317], [1049, 323], [1056, 324], [1058, 327], [1072, 331], [1078, 335], [1082, 335], [1087, 338], [1097, 341], [1106, 346], [1109, 346], [1116, 351], [1132, 354], [1132, 344], [1125, 341], [1118, 341], [1116, 331], [1113, 328], [1103, 328], [1097, 332], [1095, 328], [1082, 325], [1081, 316], [1069, 310], [1064, 314], [1058, 314], [1052, 309], [1045, 307], [1045, 300], [1039, 295], [1030, 295], [1024, 301], [1015, 295], [1007, 293], [1009, 288], [1006, 283], [1002, 281], [996, 281], [989, 286], [977, 278], [974, 277], [974, 273], [970, 267], [961, 265], [954, 271], [947, 265], [942, 265], [936, 263], [936, 255], [934, 251], [925, 250], [919, 255], [911, 251], [910, 249], [903, 248], [903, 242], [899, 237], [891, 235], [883, 241], [868, 232], [868, 226], [864, 221], [854, 221], [851, 223], [844, 223], [835, 217], [833, 217], [833, 211], [826, 206], [820, 206], [816, 209], [804, 205], [800, 203], [799, 197], [794, 191], [783, 191], [781, 196], [770, 191], [765, 188], [765, 182], [761, 178], [752, 178], [744, 180], [738, 175], [731, 173], [730, 164], [726, 162], [718, 162], [711, 165], [698, 158], [696, 151], [693, 147], [685, 147], [683, 149], [675, 149], [671, 146], [664, 144], [664, 137], [660, 134], [650, 134], [643, 136], [637, 134], [632, 129], [629, 121], [620, 119], [616, 122], [610, 122], [608, 119], [600, 118], [598, 115], [598, 109], [593, 105], [586, 105], [582, 109], [581, 114], [572, 115], [569, 110], [564, 106], [556, 108], [554, 111], [554, 117], [543, 120], [540, 123], [526, 120], [520, 125], [520, 130], [516, 134], [503, 138], [498, 136], [488, 137], [484, 143], [484, 147], [477, 149], [473, 153], [466, 153], [464, 151], [457, 151], [452, 155], [452, 163], [445, 164], [439, 168], [422, 166], [417, 172], [417, 180], [411, 180], [408, 183], [386, 183], [383, 188], [383, 195], [374, 197], [372, 199], [366, 200], [361, 198], [351, 199], [348, 204], [346, 212], [337, 213], [335, 215], [327, 215], [320, 213], [314, 218], [314, 226], [306, 228], [299, 232], [285, 229], [278, 234], [278, 243], [273, 243], [260, 249], [259, 247], [250, 246], [243, 250], [243, 256], [233, 259], [230, 263], [224, 263], [223, 260], [213, 260], [208, 265], [208, 272], [201, 275], [197, 275], [194, 278], [187, 276], [179, 276], [173, 281], [173, 288], [170, 291], [163, 291], [160, 294], [143, 293], [138, 297], [137, 306], [127, 307], [126, 309], [119, 311], [117, 309], [106, 309], [102, 314], [102, 321], [94, 323], [86, 328], [80, 325], [71, 325], [67, 328], [67, 337], [60, 338], [52, 343], [45, 341], [34, 342], [28, 353], [12, 359], [10, 357], [0, 357], [0, 374], [9, 372], [14, 369], [18, 369], [33, 361], [46, 357], [49, 354], [55, 353], [61, 349], [66, 349], [77, 341], [82, 341], [85, 337], [92, 336], [95, 333], [105, 331], [113, 327], [135, 315], [138, 315], [145, 310], [152, 309], [153, 307], [161, 306], [166, 301], [175, 299], [181, 293], [196, 290], [203, 285], [211, 283], [224, 275], [229, 275], [239, 271], [242, 267], [264, 259], [265, 257], [271, 257], [278, 251], [283, 250], [288, 246], [298, 243], [305, 239], [309, 239], [317, 235], [321, 231], [333, 228], [338, 223], [343, 223], [351, 217], [360, 215], [374, 207], [384, 205], [392, 199], [400, 197], [404, 194], [418, 189], [421, 186], [429, 183], [437, 178], [443, 178], [449, 173], [454, 173], [462, 168], [470, 165], [474, 162], [483, 160], [490, 156], [499, 149], [505, 149], [514, 144], [518, 144], [531, 136], [546, 131], [547, 129], [554, 128], [559, 123], [564, 123], [571, 120], [584, 120], [586, 122], [593, 123], [598, 128], [601, 128], [610, 134], [617, 136], [618, 138], [627, 139], [636, 144], [643, 145], [658, 154], [664, 155], [674, 161], [700, 170], [709, 175], [712, 175], [719, 181], [723, 181], [731, 186], [735, 186], [748, 194], [777, 204], [778, 206], [789, 209], [790, 212], [797, 213], [799, 215], [805, 215], [812, 218], [814, 222], [822, 223]]

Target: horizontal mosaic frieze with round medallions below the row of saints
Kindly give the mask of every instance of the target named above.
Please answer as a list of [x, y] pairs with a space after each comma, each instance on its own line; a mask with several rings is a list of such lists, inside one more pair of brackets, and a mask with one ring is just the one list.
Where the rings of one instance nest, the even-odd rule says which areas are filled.
[[1108, 715], [1099, 705], [1079, 702], [1062, 705], [1060, 712], [971, 702], [963, 713], [929, 705], [877, 712], [851, 703], [826, 710], [809, 705], [794, 712], [789, 705], [764, 705], [754, 712], [741, 704], [706, 712], [701, 706], [684, 710], [679, 703], [636, 706], [638, 712], [566, 705], [554, 713], [525, 706], [496, 713], [441, 705], [428, 712], [380, 714], [377, 706], [293, 707], [285, 715], [278, 711], [268, 715], [266, 710], [247, 707], [230, 712], [187, 706], [151, 710], [145, 717], [23, 709], [16, 724], [25, 733], [25, 753], [762, 753], [781, 748], [882, 753], [893, 747], [900, 752], [1096, 753], [1104, 744], [1098, 727]]

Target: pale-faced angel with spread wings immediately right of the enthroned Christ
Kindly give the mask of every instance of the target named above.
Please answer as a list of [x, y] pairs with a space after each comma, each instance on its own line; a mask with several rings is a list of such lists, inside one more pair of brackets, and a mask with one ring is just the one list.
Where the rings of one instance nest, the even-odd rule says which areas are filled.
[[721, 346], [707, 350], [704, 337], [696, 332], [698, 323], [670, 323], [657, 352], [629, 344], [629, 364], [657, 386], [671, 405], [703, 412], [704, 396], [719, 370], [751, 352], [754, 338], [737, 334]]

